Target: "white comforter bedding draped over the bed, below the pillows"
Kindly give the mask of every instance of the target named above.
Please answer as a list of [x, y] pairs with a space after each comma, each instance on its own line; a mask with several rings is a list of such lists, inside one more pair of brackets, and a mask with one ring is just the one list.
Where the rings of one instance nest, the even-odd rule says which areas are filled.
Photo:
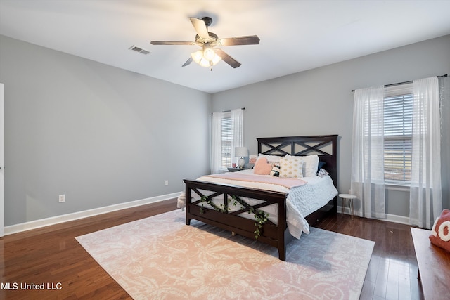
[[[256, 175], [253, 174], [253, 170], [243, 170], [240, 171], [243, 174], [252, 174], [253, 176], [270, 176], [270, 175]], [[288, 198], [286, 201], [286, 221], [288, 223], [288, 230], [293, 237], [297, 239], [300, 238], [302, 233], [309, 233], [309, 224], [305, 219], [317, 209], [323, 207], [328, 201], [332, 200], [336, 195], [338, 195], [338, 190], [336, 190], [333, 185], [333, 180], [330, 176], [314, 176], [314, 177], [304, 177], [304, 181], [307, 184], [298, 186], [295, 188], [285, 188], [281, 185], [274, 185], [270, 183], [259, 183], [250, 181], [236, 181], [224, 178], [214, 178], [210, 176], [202, 176], [198, 178], [198, 181], [208, 181], [212, 183], [228, 183], [232, 185], [239, 185], [246, 188], [259, 188], [262, 190], [272, 190], [278, 192], [288, 193]], [[207, 193], [205, 194], [207, 195]], [[253, 200], [244, 198], [249, 204], [257, 204], [259, 200]], [[207, 204], [205, 204], [205, 207]], [[233, 207], [230, 207], [233, 210]], [[236, 208], [238, 209], [238, 208]], [[235, 209], [235, 210], [236, 210]], [[269, 213], [269, 219], [277, 223], [277, 212], [276, 205], [273, 204], [269, 207], [264, 207], [263, 209]], [[244, 217], [252, 218], [251, 215], [242, 214]]]

